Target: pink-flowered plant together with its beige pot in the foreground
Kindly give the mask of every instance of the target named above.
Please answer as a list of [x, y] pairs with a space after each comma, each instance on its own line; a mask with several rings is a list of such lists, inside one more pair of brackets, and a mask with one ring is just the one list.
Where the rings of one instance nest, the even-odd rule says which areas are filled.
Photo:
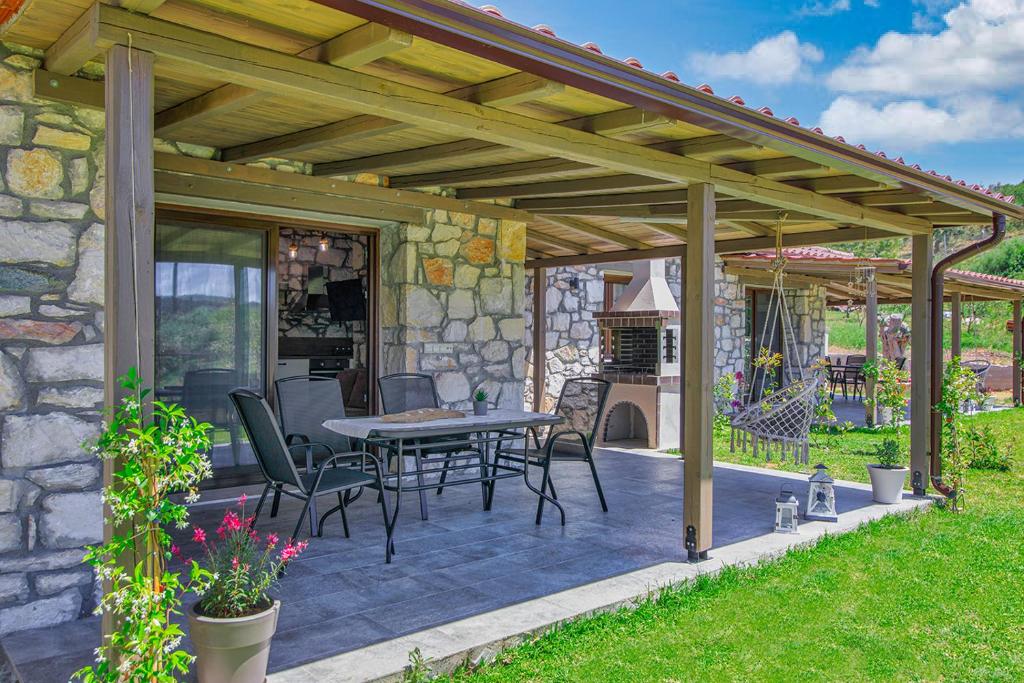
[[[268, 593], [284, 568], [306, 548], [289, 541], [280, 550], [275, 533], [260, 538], [240, 510], [224, 512], [217, 540], [197, 527], [193, 540], [206, 553], [213, 579], [188, 610], [188, 631], [196, 647], [200, 683], [262, 683], [278, 629], [281, 601]], [[178, 551], [180, 552], [180, 551]]]

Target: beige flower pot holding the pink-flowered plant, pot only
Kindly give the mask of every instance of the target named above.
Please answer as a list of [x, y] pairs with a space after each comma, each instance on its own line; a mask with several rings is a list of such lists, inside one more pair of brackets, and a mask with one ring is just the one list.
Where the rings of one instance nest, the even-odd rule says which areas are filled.
[[188, 635], [196, 648], [200, 683], [263, 683], [270, 639], [278, 630], [281, 601], [258, 614], [214, 618], [188, 610]]

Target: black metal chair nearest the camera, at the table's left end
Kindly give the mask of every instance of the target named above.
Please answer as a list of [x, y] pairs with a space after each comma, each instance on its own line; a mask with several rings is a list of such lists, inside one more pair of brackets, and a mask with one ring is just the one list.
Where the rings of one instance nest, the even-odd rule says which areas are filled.
[[[342, 453], [336, 454], [327, 443], [304, 442], [295, 443], [289, 446], [285, 442], [285, 436], [281, 433], [278, 421], [273, 417], [273, 412], [266, 400], [254, 391], [249, 389], [234, 389], [228, 394], [234, 409], [238, 411], [242, 427], [249, 437], [249, 444], [252, 446], [256, 462], [260, 471], [266, 479], [266, 486], [259, 497], [256, 505], [256, 512], [253, 514], [252, 525], [255, 525], [256, 518], [263, 509], [266, 496], [274, 488], [286, 496], [291, 496], [304, 502], [302, 513], [295, 524], [295, 531], [292, 539], [296, 539], [302, 521], [309, 512], [309, 506], [313, 499], [324, 494], [337, 494], [338, 505], [325, 512], [319, 522], [309, 516], [309, 535], [321, 537], [324, 535], [324, 521], [332, 513], [341, 512], [345, 527], [345, 536], [348, 537], [348, 521], [345, 519], [345, 503], [343, 495], [353, 488], [362, 486], [373, 486], [381, 492], [384, 490], [384, 472], [381, 468], [380, 460], [369, 453]], [[295, 467], [292, 451], [295, 449], [316, 447], [328, 454], [319, 466], [312, 471], [300, 474]], [[331, 467], [329, 467], [329, 465]], [[335, 467], [334, 465], [339, 465]], [[285, 486], [294, 487], [294, 489]], [[381, 496], [381, 510], [384, 513], [384, 524], [387, 526], [387, 497]], [[315, 524], [315, 526], [314, 526]], [[391, 540], [387, 541], [386, 555], [390, 561]]]

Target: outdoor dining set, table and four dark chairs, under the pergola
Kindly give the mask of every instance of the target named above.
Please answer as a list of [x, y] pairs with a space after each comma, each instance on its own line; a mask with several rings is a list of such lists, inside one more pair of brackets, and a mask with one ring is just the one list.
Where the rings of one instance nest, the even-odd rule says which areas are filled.
[[[481, 505], [489, 510], [497, 482], [521, 478], [538, 497], [536, 523], [550, 503], [564, 525], [552, 464], [565, 461], [590, 467], [601, 508], [607, 511], [593, 450], [608, 382], [566, 381], [551, 414], [497, 409], [484, 415], [441, 409], [429, 375], [389, 375], [378, 385], [379, 417], [346, 417], [341, 385], [326, 377], [278, 380], [276, 413], [254, 391], [229, 392], [265, 480], [253, 524], [268, 498], [274, 517], [282, 496], [288, 496], [302, 502], [292, 538], [298, 537], [307, 517], [310, 536], [323, 536], [325, 522], [336, 512], [348, 538], [347, 507], [370, 489], [366, 497], [375, 496], [380, 505], [385, 559], [390, 562], [403, 494], [418, 495], [420, 516], [426, 520], [428, 492], [440, 496], [449, 486], [479, 484]], [[539, 480], [531, 480], [531, 468]], [[318, 513], [322, 496], [337, 502]]]

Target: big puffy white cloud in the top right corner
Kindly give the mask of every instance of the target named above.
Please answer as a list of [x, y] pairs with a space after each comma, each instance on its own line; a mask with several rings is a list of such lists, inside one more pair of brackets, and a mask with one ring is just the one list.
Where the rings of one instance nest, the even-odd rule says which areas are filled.
[[[924, 0], [927, 8], [937, 2]], [[844, 92], [928, 97], [1024, 85], [1024, 0], [968, 0], [938, 33], [887, 33], [828, 77]]]

